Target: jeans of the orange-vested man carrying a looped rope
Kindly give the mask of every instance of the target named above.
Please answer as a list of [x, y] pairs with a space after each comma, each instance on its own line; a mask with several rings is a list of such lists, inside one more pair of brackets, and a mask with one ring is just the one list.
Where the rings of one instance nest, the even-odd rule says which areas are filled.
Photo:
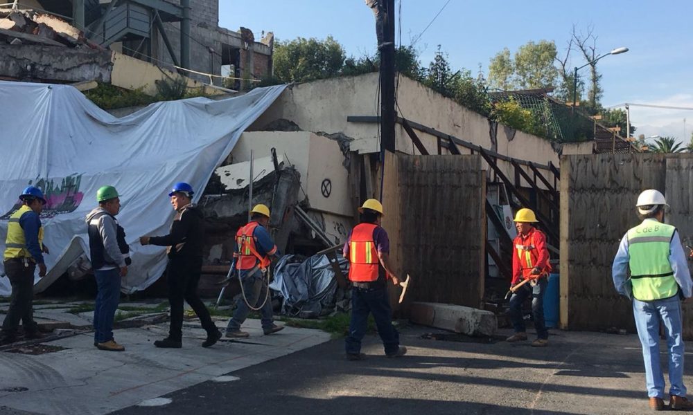
[[[240, 281], [243, 284], [243, 291], [245, 292], [245, 297], [249, 304], [257, 307], [265, 301], [265, 296], [267, 301], [265, 305], [262, 306], [260, 310], [262, 328], [272, 329], [274, 324], [274, 319], [272, 318], [272, 297], [267, 293], [267, 285], [262, 278], [262, 273], [257, 270], [253, 275], [248, 276], [247, 271], [240, 272]], [[238, 301], [236, 302], [236, 311], [234, 312], [234, 317], [231, 317], [229, 324], [226, 327], [226, 331], [238, 331], [240, 330], [240, 325], [245, 322], [245, 319], [250, 313], [250, 308], [245, 304], [243, 299], [243, 293], [238, 296]]]

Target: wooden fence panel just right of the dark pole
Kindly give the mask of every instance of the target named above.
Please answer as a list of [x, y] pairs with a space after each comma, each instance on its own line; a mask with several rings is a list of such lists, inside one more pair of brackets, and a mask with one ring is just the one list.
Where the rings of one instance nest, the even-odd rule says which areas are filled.
[[484, 295], [486, 180], [479, 155], [387, 154], [383, 227], [407, 302], [480, 307]]

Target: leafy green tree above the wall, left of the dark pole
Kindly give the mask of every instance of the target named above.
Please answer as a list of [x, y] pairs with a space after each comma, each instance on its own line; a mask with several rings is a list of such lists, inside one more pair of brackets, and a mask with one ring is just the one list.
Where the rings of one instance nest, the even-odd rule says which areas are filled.
[[280, 82], [306, 82], [339, 75], [344, 48], [333, 37], [320, 41], [297, 37], [274, 44], [274, 77]]

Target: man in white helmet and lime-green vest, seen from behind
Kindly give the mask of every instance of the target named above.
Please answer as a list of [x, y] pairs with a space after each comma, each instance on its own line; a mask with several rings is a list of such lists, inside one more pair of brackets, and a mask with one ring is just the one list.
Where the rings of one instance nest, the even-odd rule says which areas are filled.
[[669, 351], [669, 407], [693, 409], [693, 403], [685, 397], [683, 385], [681, 314], [681, 299], [691, 297], [693, 282], [681, 239], [674, 226], [664, 223], [668, 205], [663, 194], [645, 190], [638, 196], [635, 207], [642, 223], [621, 239], [611, 268], [613, 285], [620, 295], [633, 299], [650, 409], [665, 409], [665, 382], [659, 352], [660, 322]]

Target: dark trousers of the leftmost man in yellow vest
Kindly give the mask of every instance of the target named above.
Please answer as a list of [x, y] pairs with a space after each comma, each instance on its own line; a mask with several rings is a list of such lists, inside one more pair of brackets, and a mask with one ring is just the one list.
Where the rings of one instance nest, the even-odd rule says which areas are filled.
[[10, 297], [10, 308], [2, 324], [3, 338], [15, 338], [19, 328], [19, 320], [24, 325], [24, 333], [35, 333], [37, 331], [34, 322], [34, 272], [36, 265], [28, 261], [28, 266], [24, 266], [22, 259], [8, 259], [3, 263], [5, 273], [12, 285], [12, 297]]

